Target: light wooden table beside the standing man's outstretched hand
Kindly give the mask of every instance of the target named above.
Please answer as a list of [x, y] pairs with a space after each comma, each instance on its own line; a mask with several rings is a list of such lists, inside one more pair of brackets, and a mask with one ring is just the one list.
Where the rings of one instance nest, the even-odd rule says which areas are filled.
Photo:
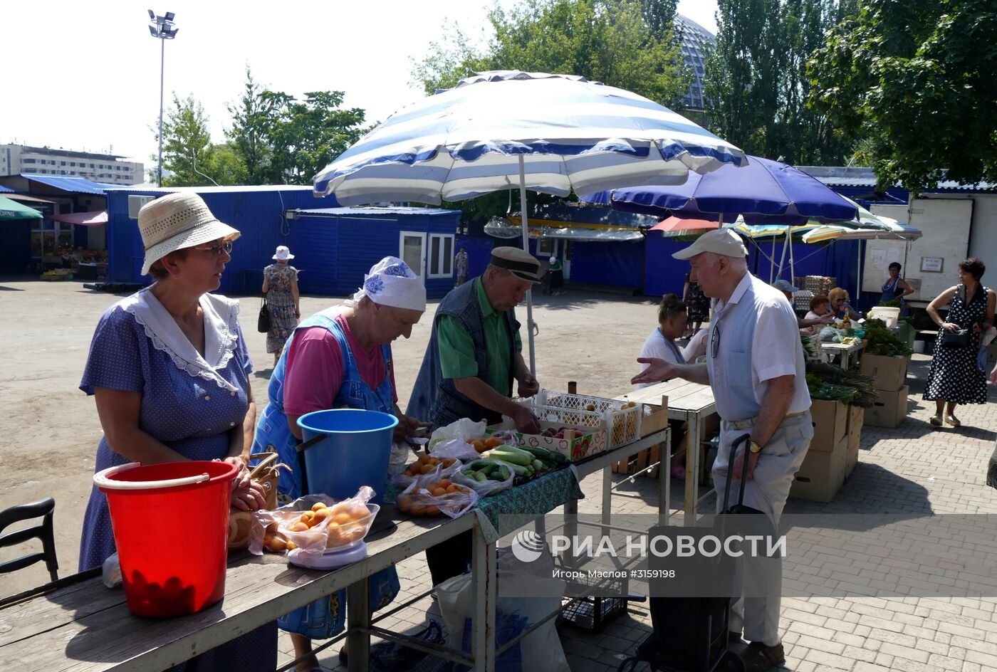
[[[696, 523], [696, 506], [706, 499], [713, 489], [702, 496], [699, 495], [700, 479], [700, 449], [706, 434], [707, 419], [717, 412], [717, 404], [713, 399], [713, 390], [709, 385], [690, 383], [680, 378], [674, 378], [663, 383], [656, 383], [640, 390], [634, 390], [617, 399], [642, 402], [645, 404], [660, 404], [662, 397], [668, 398], [668, 419], [683, 420], [689, 423], [686, 434], [686, 490], [685, 490], [685, 524]], [[668, 451], [663, 451], [663, 456]], [[662, 461], [666, 461], [663, 457]], [[670, 470], [662, 469], [658, 481], [670, 482]], [[660, 490], [660, 486], [659, 486]]]

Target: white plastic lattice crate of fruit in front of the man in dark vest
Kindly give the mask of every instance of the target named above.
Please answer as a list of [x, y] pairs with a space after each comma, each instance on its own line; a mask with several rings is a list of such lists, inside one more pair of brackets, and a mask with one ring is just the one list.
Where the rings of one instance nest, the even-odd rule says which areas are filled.
[[629, 444], [641, 436], [644, 408], [639, 403], [550, 390], [540, 390], [529, 403], [540, 420], [605, 431], [609, 449]]

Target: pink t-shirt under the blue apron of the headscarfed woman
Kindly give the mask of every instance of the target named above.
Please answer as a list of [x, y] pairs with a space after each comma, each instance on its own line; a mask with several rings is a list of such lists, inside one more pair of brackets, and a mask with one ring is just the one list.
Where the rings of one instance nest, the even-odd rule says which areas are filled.
[[[336, 315], [336, 324], [346, 334], [346, 342], [357, 362], [360, 377], [376, 390], [391, 376], [392, 398], [397, 403], [395, 371], [386, 372], [381, 346], [365, 351], [350, 331], [343, 315]], [[390, 347], [390, 346], [389, 346]], [[287, 373], [284, 376], [284, 413], [303, 416], [312, 411], [333, 408], [336, 393], [343, 383], [343, 353], [339, 341], [325, 327], [309, 327], [296, 334], [287, 352]]]

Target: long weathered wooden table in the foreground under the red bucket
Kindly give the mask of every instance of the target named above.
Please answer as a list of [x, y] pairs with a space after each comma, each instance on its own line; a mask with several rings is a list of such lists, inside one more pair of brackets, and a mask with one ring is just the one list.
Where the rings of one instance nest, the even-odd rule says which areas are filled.
[[[578, 478], [606, 473], [614, 462], [668, 437], [665, 428], [578, 463]], [[603, 496], [608, 508], [611, 499], [605, 489]], [[659, 511], [667, 511], [660, 489], [659, 498]], [[565, 504], [566, 511], [572, 502]], [[573, 508], [577, 510], [576, 503]], [[346, 588], [349, 669], [365, 671], [372, 634], [407, 640], [374, 625], [364, 579], [468, 530], [475, 531], [472, 590], [476, 619], [485, 626], [474, 628], [470, 657], [456, 651], [447, 657], [463, 658], [476, 671], [492, 672], [496, 664], [496, 540], [486, 539], [478, 515], [412, 518], [392, 504], [382, 507], [366, 538], [365, 559], [335, 571], [321, 571], [290, 565], [282, 555], [237, 552], [229, 557], [224, 599], [187, 616], [163, 620], [134, 616], [124, 590], [106, 588], [94, 570], [42, 586], [0, 606], [0, 670], [158, 672]], [[425, 643], [417, 643], [416, 648], [425, 650]]]

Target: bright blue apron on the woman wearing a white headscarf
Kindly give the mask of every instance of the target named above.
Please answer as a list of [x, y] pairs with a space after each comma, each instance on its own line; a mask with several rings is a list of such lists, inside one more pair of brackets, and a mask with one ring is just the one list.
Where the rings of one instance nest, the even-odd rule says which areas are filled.
[[[336, 392], [334, 407], [381, 411], [394, 415], [390, 347], [381, 346], [387, 375], [384, 382], [376, 390], [372, 390], [361, 378], [357, 362], [346, 340], [346, 334], [336, 324], [335, 319], [322, 313], [312, 315], [298, 325], [277, 361], [268, 387], [269, 404], [263, 410], [256, 425], [256, 436], [252, 446], [253, 453], [265, 451], [272, 446], [280, 456], [280, 461], [292, 469], [295, 469], [299, 464], [297, 451], [294, 450], [299, 442], [291, 434], [291, 429], [287, 425], [287, 416], [284, 414], [284, 375], [287, 371], [287, 353], [290, 351], [291, 340], [298, 330], [308, 327], [327, 329], [335, 337], [339, 344], [339, 351], [343, 354], [343, 381]], [[290, 500], [301, 497], [299, 470], [295, 469], [293, 474], [282, 472], [277, 492]], [[370, 582], [371, 611], [377, 611], [387, 606], [401, 589], [398, 572], [395, 571], [394, 567], [388, 567], [373, 574], [368, 581]], [[281, 616], [277, 619], [277, 625], [282, 630], [297, 632], [312, 639], [329, 639], [343, 631], [346, 623], [345, 607], [346, 590], [344, 589]]]

